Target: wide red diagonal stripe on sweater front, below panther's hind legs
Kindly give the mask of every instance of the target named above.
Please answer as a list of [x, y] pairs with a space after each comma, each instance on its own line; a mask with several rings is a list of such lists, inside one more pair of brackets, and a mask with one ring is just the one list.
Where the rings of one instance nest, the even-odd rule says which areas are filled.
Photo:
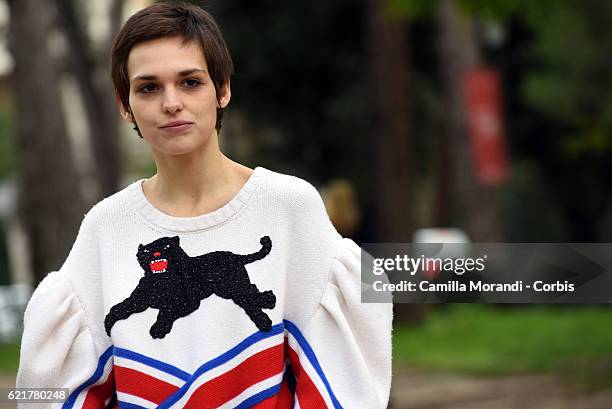
[[216, 408], [235, 398], [250, 386], [283, 371], [284, 345], [279, 344], [249, 357], [233, 369], [200, 385], [186, 409]]

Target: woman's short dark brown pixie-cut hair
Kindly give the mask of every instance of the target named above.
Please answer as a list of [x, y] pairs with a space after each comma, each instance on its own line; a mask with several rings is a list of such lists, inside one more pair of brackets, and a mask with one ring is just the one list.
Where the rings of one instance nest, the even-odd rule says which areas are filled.
[[[113, 42], [111, 78], [115, 93], [123, 107], [128, 112], [132, 112], [127, 69], [130, 51], [139, 43], [162, 37], [182, 37], [185, 44], [197, 42], [200, 45], [218, 101], [219, 90], [229, 82], [234, 73], [232, 57], [221, 30], [213, 17], [201, 8], [184, 2], [163, 1], [142, 9], [130, 17]], [[221, 129], [224, 110], [225, 108], [217, 108], [215, 124], [217, 131]], [[138, 125], [134, 129], [140, 135]]]

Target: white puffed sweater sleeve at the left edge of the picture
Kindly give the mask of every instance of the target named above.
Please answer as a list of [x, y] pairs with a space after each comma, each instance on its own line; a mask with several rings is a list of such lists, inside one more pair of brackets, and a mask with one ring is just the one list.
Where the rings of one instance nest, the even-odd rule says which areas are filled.
[[20, 408], [104, 408], [114, 391], [112, 349], [96, 344], [87, 316], [62, 272], [39, 284], [24, 316], [17, 387], [67, 388], [64, 403]]

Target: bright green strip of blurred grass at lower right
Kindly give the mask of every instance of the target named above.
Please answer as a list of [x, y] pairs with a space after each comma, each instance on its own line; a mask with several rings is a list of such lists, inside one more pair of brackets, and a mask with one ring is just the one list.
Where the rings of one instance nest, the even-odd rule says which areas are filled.
[[421, 326], [394, 327], [394, 364], [480, 375], [554, 372], [610, 386], [609, 320], [606, 307], [440, 306]]

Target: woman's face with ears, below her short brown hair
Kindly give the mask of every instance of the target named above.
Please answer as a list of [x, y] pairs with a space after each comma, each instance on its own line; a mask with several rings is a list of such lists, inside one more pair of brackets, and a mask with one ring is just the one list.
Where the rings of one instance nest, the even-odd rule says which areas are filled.
[[181, 37], [143, 42], [132, 48], [127, 65], [133, 117], [121, 112], [154, 151], [183, 155], [216, 138], [217, 107], [228, 104], [230, 89], [220, 89], [217, 101], [199, 44], [183, 44]]

